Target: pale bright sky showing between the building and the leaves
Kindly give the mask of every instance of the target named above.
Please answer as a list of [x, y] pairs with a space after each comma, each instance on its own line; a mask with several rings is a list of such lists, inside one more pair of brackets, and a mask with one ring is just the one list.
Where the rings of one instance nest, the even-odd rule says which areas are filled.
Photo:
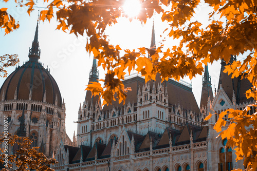
[[[38, 10], [45, 7], [44, 4], [38, 4], [35, 10], [27, 14], [25, 8], [15, 7], [13, 2], [0, 3], [0, 8], [7, 7], [8, 12], [19, 21], [20, 28], [5, 35], [4, 29], [0, 28], [0, 56], [4, 54], [18, 54], [20, 66], [28, 58], [28, 51], [34, 39], [35, 27], [38, 18]], [[207, 20], [208, 7], [201, 4], [197, 8], [195, 18], [200, 21]], [[153, 19], [154, 18], [154, 19]], [[150, 18], [145, 25], [138, 21], [130, 22], [126, 18], [120, 18], [118, 24], [108, 27], [106, 33], [109, 35], [110, 42], [114, 45], [119, 44], [121, 48], [135, 49], [140, 47], [150, 47], [152, 25], [154, 20], [155, 39], [157, 47], [161, 41], [165, 24], [161, 22], [160, 15]], [[164, 27], [163, 27], [164, 26]], [[77, 134], [77, 124], [74, 123], [78, 119], [78, 110], [80, 103], [85, 100], [85, 88], [88, 84], [89, 71], [93, 63], [93, 55], [89, 55], [85, 50], [86, 36], [76, 37], [74, 34], [68, 34], [60, 30], [56, 30], [57, 23], [54, 18], [50, 23], [39, 23], [39, 45], [41, 48], [40, 62], [44, 67], [50, 68], [50, 74], [56, 80], [61, 91], [62, 98], [66, 103], [66, 132], [72, 140], [74, 131]], [[162, 36], [163, 37], [163, 36]], [[166, 45], [176, 45], [176, 41], [168, 40]], [[221, 65], [216, 62], [209, 65], [209, 72], [212, 79], [212, 88], [217, 87], [218, 77]], [[10, 75], [15, 67], [9, 67], [8, 75]], [[104, 71], [99, 68], [100, 78], [103, 79]], [[6, 78], [0, 78], [2, 86]], [[185, 81], [191, 83], [188, 78]], [[201, 96], [202, 76], [197, 75], [192, 79], [192, 87], [195, 99], [199, 105]]]

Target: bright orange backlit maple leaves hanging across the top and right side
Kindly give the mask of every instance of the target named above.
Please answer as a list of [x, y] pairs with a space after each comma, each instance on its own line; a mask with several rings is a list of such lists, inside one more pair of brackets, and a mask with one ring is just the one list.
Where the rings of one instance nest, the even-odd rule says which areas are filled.
[[[5, 0], [8, 1], [8, 0]], [[47, 0], [44, 0], [47, 2]], [[98, 66], [106, 70], [106, 75], [100, 83], [89, 84], [87, 90], [103, 99], [103, 104], [112, 103], [117, 94], [119, 102], [124, 102], [126, 91], [120, 81], [124, 79], [125, 71], [141, 72], [145, 81], [155, 80], [157, 72], [162, 80], [202, 74], [203, 64], [213, 63], [224, 59], [227, 63], [230, 55], [249, 54], [242, 61], [233, 62], [226, 66], [225, 72], [233, 77], [242, 75], [253, 87], [246, 92], [247, 98], [254, 98], [252, 107], [257, 100], [257, 4], [248, 0], [205, 0], [211, 7], [209, 24], [201, 23], [194, 18], [200, 0], [139, 0], [140, 14], [134, 18], [142, 23], [153, 16], [154, 12], [162, 15], [162, 21], [168, 22], [169, 27], [164, 31], [171, 39], [177, 39], [176, 46], [164, 48], [165, 40], [157, 49], [140, 47], [138, 49], [121, 49], [119, 45], [109, 43], [105, 34], [107, 26], [117, 23], [117, 18], [124, 16], [122, 5], [124, 0], [104, 1], [62, 1], [54, 0], [45, 10], [41, 11], [40, 20], [50, 21], [53, 17], [59, 22], [57, 29], [76, 35], [88, 37], [86, 50], [98, 59]], [[33, 1], [27, 4], [28, 13], [33, 10]], [[53, 8], [57, 9], [55, 13]], [[2, 11], [5, 11], [3, 9]], [[6, 15], [6, 14], [5, 14]], [[1, 21], [2, 15], [0, 15]], [[14, 20], [14, 19], [11, 19]], [[132, 18], [131, 18], [132, 20]], [[14, 21], [9, 22], [15, 28]], [[3, 24], [2, 24], [3, 27]], [[10, 30], [10, 29], [9, 29]], [[9, 33], [8, 30], [6, 33]], [[122, 54], [122, 55], [120, 55]], [[150, 58], [148, 58], [150, 54]], [[255, 170], [256, 151], [256, 113], [249, 116], [247, 110], [229, 109], [221, 113], [215, 129], [221, 131], [222, 138], [227, 137], [228, 146], [236, 150], [237, 160], [244, 159], [248, 170]], [[228, 114], [229, 120], [223, 116]], [[211, 115], [210, 115], [211, 116]], [[210, 117], [208, 117], [210, 118]], [[221, 127], [228, 125], [222, 131]], [[246, 128], [247, 127], [247, 128]], [[244, 158], [245, 157], [245, 158]]]

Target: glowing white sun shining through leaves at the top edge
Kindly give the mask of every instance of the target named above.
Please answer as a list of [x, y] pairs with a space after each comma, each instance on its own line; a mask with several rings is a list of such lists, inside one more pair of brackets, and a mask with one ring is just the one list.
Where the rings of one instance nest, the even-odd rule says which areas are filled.
[[128, 17], [136, 17], [140, 12], [141, 5], [138, 0], [126, 0], [123, 9]]

